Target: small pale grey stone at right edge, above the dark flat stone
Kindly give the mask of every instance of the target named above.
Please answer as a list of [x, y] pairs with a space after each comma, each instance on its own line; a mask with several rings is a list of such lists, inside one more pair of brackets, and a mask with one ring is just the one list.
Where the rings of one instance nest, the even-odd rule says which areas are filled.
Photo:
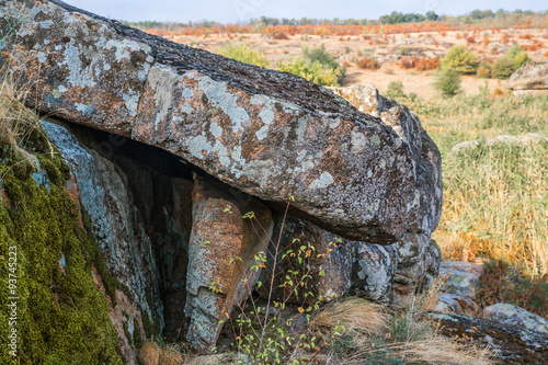
[[521, 326], [532, 331], [548, 334], [548, 320], [512, 304], [496, 303], [483, 308], [483, 318]]

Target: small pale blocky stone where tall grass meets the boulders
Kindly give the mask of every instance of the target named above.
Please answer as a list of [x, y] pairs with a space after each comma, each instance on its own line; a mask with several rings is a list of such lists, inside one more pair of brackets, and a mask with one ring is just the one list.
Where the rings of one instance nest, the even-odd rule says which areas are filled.
[[443, 290], [472, 300], [479, 292], [483, 274], [483, 264], [479, 263], [447, 261], [439, 264], [439, 276], [446, 276]]

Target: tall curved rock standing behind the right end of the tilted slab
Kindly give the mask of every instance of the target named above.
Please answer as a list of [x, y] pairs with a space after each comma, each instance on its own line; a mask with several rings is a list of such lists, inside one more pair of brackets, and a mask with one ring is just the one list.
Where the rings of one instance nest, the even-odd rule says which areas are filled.
[[441, 253], [430, 236], [442, 210], [441, 155], [422, 129], [419, 118], [404, 105], [379, 94], [372, 84], [330, 88], [361, 112], [378, 116], [411, 148], [415, 173], [414, 199], [403, 237], [393, 244], [397, 261], [393, 292], [404, 299], [414, 290], [432, 285], [437, 276]]

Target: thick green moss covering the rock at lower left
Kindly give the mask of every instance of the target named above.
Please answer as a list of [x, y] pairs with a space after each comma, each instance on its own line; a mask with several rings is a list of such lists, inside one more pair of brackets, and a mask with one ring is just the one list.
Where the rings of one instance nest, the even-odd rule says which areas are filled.
[[[89, 227], [81, 227], [80, 212], [64, 189], [68, 167], [59, 153], [49, 153], [52, 147], [43, 136], [44, 130], [30, 134], [25, 148], [46, 172], [47, 187], [32, 176], [32, 156], [21, 158], [13, 146], [0, 146], [2, 323], [8, 323], [7, 301], [13, 296], [8, 292], [10, 248], [18, 252], [19, 297], [18, 356], [2, 346], [0, 363], [122, 364], [107, 300], [91, 275], [92, 264], [106, 274], [104, 259]], [[103, 276], [111, 294], [114, 283], [109, 283], [109, 277]], [[8, 326], [0, 327], [2, 339], [8, 331]]]

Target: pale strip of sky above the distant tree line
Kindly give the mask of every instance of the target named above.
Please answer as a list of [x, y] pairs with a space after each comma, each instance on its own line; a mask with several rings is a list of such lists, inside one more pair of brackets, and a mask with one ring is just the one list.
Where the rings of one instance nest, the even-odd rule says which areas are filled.
[[259, 18], [378, 19], [392, 11], [461, 15], [475, 9], [544, 11], [546, 0], [65, 0], [117, 20], [219, 21], [235, 23]]

